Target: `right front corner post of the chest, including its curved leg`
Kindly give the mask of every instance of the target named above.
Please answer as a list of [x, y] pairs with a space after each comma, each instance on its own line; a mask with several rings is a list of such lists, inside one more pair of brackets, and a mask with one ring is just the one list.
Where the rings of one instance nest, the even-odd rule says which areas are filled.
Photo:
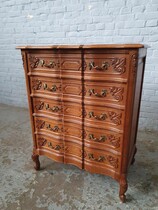
[[[135, 93], [135, 83], [136, 83], [136, 74], [137, 74], [137, 66], [138, 66], [138, 50], [133, 49], [129, 52], [129, 63], [130, 68], [128, 72], [128, 92], [127, 92], [127, 102], [126, 102], [126, 123], [124, 125], [124, 137], [123, 137], [123, 148], [122, 148], [122, 161], [121, 161], [121, 173], [120, 173], [120, 191], [119, 191], [119, 197], [120, 200], [124, 203], [126, 202], [126, 191], [128, 189], [128, 183], [127, 183], [127, 171], [128, 167], [131, 161], [131, 155], [134, 145], [133, 140], [133, 130], [129, 126], [132, 124], [133, 121], [133, 103], [134, 103], [134, 93]], [[132, 157], [134, 158], [134, 156]]]

